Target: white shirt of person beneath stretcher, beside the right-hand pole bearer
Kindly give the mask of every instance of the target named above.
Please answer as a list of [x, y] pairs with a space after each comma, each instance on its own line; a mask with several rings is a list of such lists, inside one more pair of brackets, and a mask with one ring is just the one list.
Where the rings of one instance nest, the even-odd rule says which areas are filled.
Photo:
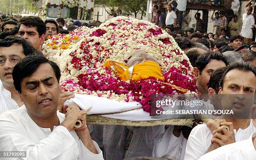
[[187, 139], [183, 137], [182, 133], [179, 137], [173, 135], [174, 126], [168, 127], [166, 130], [164, 126], [159, 126], [154, 134], [154, 157], [163, 157], [168, 155], [175, 160], [184, 160], [184, 154], [187, 144]]

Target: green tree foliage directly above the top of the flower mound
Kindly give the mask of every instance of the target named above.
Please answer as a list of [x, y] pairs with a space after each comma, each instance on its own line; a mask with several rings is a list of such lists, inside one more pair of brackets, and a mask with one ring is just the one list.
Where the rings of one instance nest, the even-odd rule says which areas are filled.
[[133, 14], [137, 18], [137, 14], [141, 13], [141, 18], [147, 10], [146, 0], [95, 0], [95, 4], [104, 5], [109, 12], [111, 9], [118, 9], [128, 14]]

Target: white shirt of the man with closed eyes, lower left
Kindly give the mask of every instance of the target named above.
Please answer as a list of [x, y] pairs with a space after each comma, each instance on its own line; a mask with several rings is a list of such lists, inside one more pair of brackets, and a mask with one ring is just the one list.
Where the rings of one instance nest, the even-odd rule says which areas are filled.
[[[60, 123], [65, 115], [57, 113]], [[99, 154], [90, 152], [77, 136], [63, 126], [39, 127], [28, 115], [26, 107], [0, 114], [0, 151], [26, 151], [23, 160], [103, 160], [102, 151], [93, 141]]]

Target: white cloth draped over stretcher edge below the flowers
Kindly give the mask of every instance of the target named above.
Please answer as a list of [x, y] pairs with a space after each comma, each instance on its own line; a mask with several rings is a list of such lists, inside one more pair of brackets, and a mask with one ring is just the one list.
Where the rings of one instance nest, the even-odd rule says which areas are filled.
[[[92, 106], [92, 109], [87, 114], [104, 114], [103, 117], [123, 119], [128, 121], [150, 121], [159, 120], [152, 119], [148, 112], [143, 109], [139, 102], [119, 102], [113, 99], [104, 97], [97, 97], [86, 94], [75, 94], [75, 97], [67, 100], [64, 104], [69, 105], [71, 103], [77, 104], [82, 110], [87, 110]], [[132, 110], [134, 109], [134, 110]], [[124, 112], [127, 111], [127, 112]], [[116, 113], [118, 114], [108, 114]]]

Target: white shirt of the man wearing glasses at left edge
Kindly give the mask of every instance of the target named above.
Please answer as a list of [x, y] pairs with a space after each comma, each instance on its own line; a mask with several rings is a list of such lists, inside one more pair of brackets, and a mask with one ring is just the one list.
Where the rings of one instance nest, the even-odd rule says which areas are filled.
[[0, 102], [0, 114], [11, 109], [19, 108], [15, 100], [12, 99], [10, 91], [3, 87], [2, 82], [0, 82]]

